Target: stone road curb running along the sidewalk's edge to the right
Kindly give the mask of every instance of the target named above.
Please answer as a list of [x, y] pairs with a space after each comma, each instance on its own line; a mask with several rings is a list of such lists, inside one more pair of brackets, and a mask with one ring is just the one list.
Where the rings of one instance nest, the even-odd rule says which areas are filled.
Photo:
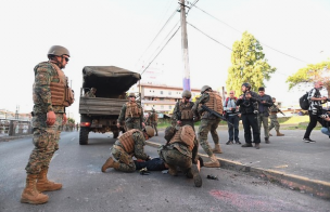
[[[154, 142], [147, 142], [147, 145], [158, 148], [161, 145]], [[203, 159], [207, 159], [208, 156], [199, 154]], [[217, 156], [217, 159], [221, 163], [221, 169], [233, 170], [243, 172], [252, 176], [267, 180], [270, 183], [279, 184], [292, 190], [300, 193], [310, 194], [323, 199], [330, 200], [330, 183], [325, 181], [312, 180], [308, 177], [287, 174], [271, 169], [262, 169], [252, 165], [246, 165], [241, 162], [224, 159]]]

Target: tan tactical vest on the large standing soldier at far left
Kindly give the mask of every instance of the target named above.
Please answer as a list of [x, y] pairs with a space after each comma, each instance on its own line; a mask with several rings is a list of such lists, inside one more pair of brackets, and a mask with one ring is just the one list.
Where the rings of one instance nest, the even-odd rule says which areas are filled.
[[56, 65], [50, 64], [58, 72], [58, 76], [53, 76], [52, 81], [50, 82], [52, 105], [71, 106], [74, 103], [74, 94], [71, 88], [67, 87], [67, 79]]

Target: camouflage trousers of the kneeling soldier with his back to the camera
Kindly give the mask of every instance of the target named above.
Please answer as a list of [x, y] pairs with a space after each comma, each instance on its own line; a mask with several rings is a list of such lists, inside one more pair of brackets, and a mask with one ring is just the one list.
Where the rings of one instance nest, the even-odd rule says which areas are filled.
[[190, 157], [181, 154], [178, 149], [169, 146], [161, 146], [158, 149], [160, 158], [164, 160], [165, 163], [174, 167], [179, 167], [183, 173], [192, 165], [192, 160]]

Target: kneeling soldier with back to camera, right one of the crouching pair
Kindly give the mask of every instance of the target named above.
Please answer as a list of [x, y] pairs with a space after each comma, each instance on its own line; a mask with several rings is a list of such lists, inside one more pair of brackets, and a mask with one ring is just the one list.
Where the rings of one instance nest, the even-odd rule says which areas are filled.
[[165, 130], [167, 144], [158, 149], [160, 158], [168, 167], [168, 173], [177, 176], [177, 167], [189, 178], [193, 178], [196, 187], [202, 186], [202, 177], [199, 171], [199, 143], [195, 133], [190, 125], [167, 127]]

